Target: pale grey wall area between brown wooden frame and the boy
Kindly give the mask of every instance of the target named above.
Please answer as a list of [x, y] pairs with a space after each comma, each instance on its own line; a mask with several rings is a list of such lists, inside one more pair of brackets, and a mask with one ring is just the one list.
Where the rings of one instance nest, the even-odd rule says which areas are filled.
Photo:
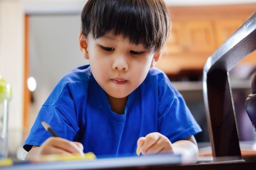
[[79, 15], [29, 17], [29, 76], [37, 81], [29, 127], [59, 80], [73, 68], [88, 64], [79, 50], [79, 32]]

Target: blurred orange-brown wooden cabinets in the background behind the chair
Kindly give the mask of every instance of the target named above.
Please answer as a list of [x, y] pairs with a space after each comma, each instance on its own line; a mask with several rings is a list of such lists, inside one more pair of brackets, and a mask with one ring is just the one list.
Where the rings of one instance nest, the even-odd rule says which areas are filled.
[[[207, 58], [255, 9], [256, 3], [170, 7], [172, 32], [157, 67], [168, 75], [202, 74]], [[242, 62], [256, 64], [256, 53]]]

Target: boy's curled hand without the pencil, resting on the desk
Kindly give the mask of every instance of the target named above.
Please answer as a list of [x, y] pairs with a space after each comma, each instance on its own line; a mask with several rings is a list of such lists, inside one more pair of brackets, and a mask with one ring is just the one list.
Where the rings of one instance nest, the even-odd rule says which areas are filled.
[[164, 135], [153, 132], [137, 141], [140, 152], [143, 155], [156, 153], [170, 153], [173, 150], [171, 141]]

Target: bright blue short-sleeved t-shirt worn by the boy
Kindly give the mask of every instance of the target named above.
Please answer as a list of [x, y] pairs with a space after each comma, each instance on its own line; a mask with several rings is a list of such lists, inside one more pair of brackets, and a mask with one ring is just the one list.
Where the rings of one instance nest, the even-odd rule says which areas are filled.
[[84, 153], [96, 155], [136, 154], [138, 138], [151, 132], [173, 143], [201, 131], [182, 96], [157, 68], [150, 68], [143, 83], [128, 96], [123, 115], [111, 111], [89, 65], [72, 70], [42, 105], [24, 143], [26, 151], [51, 136], [40, 120], [60, 137], [81, 142]]

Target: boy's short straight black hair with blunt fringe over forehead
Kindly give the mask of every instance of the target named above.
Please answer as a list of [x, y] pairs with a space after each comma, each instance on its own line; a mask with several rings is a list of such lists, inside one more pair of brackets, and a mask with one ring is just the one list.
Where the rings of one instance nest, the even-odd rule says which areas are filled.
[[81, 34], [96, 39], [109, 31], [160, 51], [171, 28], [163, 0], [88, 0], [81, 13]]

